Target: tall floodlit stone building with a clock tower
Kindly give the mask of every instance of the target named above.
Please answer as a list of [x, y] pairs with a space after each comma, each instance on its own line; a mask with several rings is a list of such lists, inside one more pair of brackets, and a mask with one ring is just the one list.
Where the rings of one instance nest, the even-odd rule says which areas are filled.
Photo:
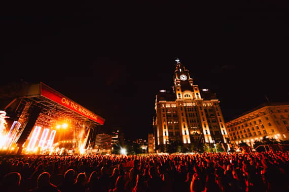
[[200, 89], [179, 60], [175, 60], [173, 91], [156, 95], [153, 120], [156, 147], [171, 140], [227, 142], [220, 102], [208, 89]]

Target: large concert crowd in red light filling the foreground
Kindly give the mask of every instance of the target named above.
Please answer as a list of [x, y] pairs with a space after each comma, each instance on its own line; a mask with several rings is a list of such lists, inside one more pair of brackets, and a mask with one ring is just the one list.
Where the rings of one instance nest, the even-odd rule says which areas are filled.
[[289, 152], [0, 159], [1, 191], [289, 191]]

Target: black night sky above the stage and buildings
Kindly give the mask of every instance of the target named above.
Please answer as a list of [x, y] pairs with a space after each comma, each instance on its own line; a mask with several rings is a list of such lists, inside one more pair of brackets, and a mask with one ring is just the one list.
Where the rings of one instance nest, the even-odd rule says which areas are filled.
[[287, 1], [40, 2], [0, 6], [2, 82], [43, 81], [105, 118], [102, 130], [147, 138], [175, 58], [226, 120], [265, 95], [288, 100]]

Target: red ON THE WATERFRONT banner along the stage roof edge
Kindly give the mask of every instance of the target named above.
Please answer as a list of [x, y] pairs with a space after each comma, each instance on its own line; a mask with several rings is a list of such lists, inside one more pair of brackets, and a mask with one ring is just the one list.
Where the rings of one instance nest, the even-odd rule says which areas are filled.
[[48, 87], [44, 83], [41, 83], [41, 95], [50, 99], [68, 109], [71, 109], [101, 125], [104, 123], [104, 119], [99, 117], [98, 115], [92, 113], [91, 111], [87, 110], [86, 108], [82, 107], [81, 105], [75, 103], [74, 101], [69, 100], [68, 98], [64, 97], [61, 93], [53, 90], [52, 88]]

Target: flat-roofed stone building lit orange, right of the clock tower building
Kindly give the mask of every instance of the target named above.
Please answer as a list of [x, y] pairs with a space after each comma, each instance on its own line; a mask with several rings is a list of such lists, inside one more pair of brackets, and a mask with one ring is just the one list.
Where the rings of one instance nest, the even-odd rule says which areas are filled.
[[277, 140], [289, 137], [289, 104], [265, 103], [226, 122], [231, 143], [241, 141], [253, 147], [264, 136]]

